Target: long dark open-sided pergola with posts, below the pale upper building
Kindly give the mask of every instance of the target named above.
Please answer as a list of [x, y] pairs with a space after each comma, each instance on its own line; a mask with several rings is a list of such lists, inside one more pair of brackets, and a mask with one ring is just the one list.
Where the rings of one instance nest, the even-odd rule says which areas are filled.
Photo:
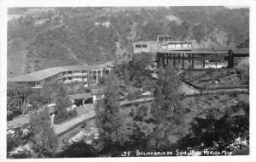
[[[167, 65], [172, 64], [176, 69], [195, 69], [195, 61], [201, 62], [201, 69], [205, 69], [206, 61], [217, 64], [219, 62], [228, 62], [228, 66], [234, 66], [235, 57], [248, 57], [248, 48], [194, 48], [190, 51], [181, 50], [168, 50], [160, 49], [155, 52], [157, 64]], [[189, 63], [189, 66], [185, 66], [185, 62]]]

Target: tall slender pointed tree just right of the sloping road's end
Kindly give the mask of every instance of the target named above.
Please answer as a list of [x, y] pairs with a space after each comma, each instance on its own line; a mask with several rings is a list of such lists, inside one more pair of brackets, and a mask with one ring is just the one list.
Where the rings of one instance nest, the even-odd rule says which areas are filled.
[[108, 76], [104, 97], [96, 103], [96, 126], [103, 143], [103, 151], [109, 151], [120, 142], [120, 127], [123, 117], [119, 114], [117, 79], [113, 72]]

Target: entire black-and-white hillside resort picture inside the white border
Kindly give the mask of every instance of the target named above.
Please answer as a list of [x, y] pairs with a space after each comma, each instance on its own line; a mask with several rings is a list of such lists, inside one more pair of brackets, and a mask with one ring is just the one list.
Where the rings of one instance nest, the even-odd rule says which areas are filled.
[[250, 156], [250, 9], [6, 8], [3, 156]]

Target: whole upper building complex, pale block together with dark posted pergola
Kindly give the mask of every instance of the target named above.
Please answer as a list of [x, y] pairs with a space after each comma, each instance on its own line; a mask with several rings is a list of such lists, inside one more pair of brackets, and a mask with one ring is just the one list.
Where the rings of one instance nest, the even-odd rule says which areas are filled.
[[206, 69], [234, 67], [249, 57], [249, 48], [194, 48], [191, 42], [173, 41], [172, 36], [160, 35], [156, 41], [134, 42], [134, 53], [154, 53], [158, 65], [171, 64], [176, 69]]

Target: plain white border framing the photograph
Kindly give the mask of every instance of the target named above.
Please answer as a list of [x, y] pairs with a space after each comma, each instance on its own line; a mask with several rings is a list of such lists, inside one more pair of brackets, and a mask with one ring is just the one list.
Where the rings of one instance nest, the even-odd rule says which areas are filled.
[[[198, 161], [198, 162], [211, 162], [211, 161], [256, 161], [255, 153], [255, 102], [253, 101], [255, 86], [256, 70], [253, 64], [256, 52], [255, 34], [255, 20], [256, 20], [256, 2], [253, 0], [178, 0], [178, 1], [156, 1], [156, 0], [94, 0], [94, 1], [81, 1], [81, 0], [0, 0], [0, 109], [1, 109], [1, 154], [0, 161], [6, 160], [6, 78], [7, 78], [7, 8], [8, 7], [124, 7], [124, 6], [230, 6], [230, 7], [250, 7], [250, 155], [249, 156], [232, 156], [232, 157], [138, 157], [138, 158], [96, 158], [96, 159], [7, 159], [7, 161], [162, 161], [162, 160], [175, 160], [175, 161]], [[254, 28], [254, 29], [253, 29]], [[256, 54], [256, 53], [255, 53]], [[254, 99], [255, 100], [255, 99]]]

